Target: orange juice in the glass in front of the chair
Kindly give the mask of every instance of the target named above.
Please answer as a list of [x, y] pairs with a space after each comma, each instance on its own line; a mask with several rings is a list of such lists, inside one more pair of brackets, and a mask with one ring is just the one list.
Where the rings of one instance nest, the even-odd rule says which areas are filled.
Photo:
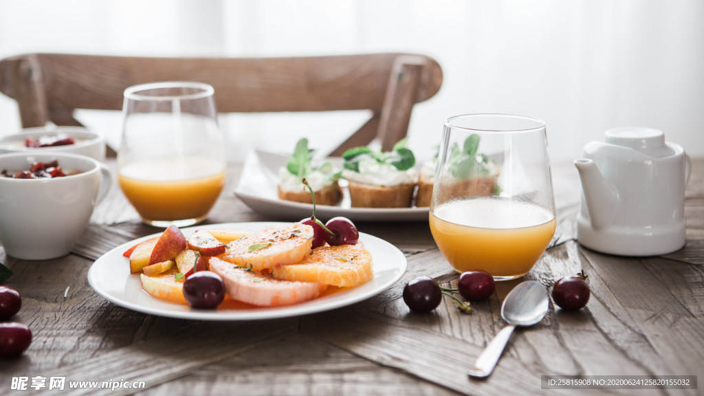
[[222, 162], [196, 157], [137, 161], [118, 173], [125, 197], [149, 221], [200, 221], [225, 186]]

